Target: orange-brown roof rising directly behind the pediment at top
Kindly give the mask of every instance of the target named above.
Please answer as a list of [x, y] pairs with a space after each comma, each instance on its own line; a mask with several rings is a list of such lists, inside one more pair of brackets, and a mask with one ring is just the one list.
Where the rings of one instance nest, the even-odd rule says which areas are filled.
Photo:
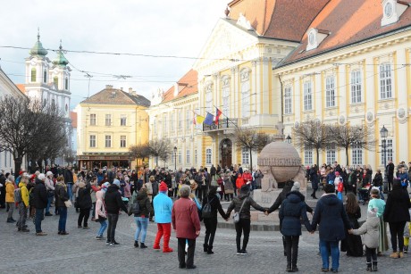
[[234, 0], [230, 18], [242, 13], [259, 36], [301, 41], [306, 28], [330, 0]]

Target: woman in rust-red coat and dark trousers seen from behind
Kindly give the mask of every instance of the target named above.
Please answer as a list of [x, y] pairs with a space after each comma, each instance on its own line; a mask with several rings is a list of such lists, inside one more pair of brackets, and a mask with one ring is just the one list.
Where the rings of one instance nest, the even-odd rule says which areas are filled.
[[[172, 206], [172, 228], [179, 240], [178, 255], [180, 269], [195, 269], [194, 251], [196, 238], [200, 235], [200, 219], [198, 218], [197, 205], [189, 199], [190, 187], [184, 185], [180, 188], [180, 199]], [[185, 261], [186, 240], [189, 243], [187, 262]]]

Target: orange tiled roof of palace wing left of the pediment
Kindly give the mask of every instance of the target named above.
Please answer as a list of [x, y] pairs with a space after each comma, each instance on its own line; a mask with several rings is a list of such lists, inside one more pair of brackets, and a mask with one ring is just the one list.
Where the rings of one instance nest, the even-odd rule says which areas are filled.
[[[177, 85], [170, 87], [170, 89], [164, 93], [164, 98], [163, 98], [162, 103], [169, 102], [174, 99], [179, 99], [184, 96], [197, 94], [198, 92], [197, 78], [198, 78], [197, 71], [194, 71], [192, 69], [189, 70], [189, 72], [187, 72], [180, 80], [177, 81]], [[176, 86], [178, 86], [179, 89], [180, 88], [181, 89], [178, 95], [174, 96], [174, 88]]]

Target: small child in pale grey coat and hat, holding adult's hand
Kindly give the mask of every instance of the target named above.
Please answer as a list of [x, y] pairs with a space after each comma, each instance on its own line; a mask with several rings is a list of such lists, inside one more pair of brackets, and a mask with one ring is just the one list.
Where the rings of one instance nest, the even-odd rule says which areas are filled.
[[348, 233], [354, 235], [364, 234], [366, 270], [377, 271], [377, 247], [378, 247], [378, 228], [380, 219], [377, 217], [377, 208], [367, 212], [365, 223], [358, 229], [350, 229]]

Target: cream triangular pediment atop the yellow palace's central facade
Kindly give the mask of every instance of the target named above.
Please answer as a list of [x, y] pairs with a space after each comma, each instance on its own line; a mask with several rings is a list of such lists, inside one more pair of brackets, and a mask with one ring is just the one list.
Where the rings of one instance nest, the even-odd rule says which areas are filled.
[[202, 71], [211, 63], [230, 63], [243, 59], [241, 51], [257, 43], [256, 31], [241, 27], [237, 21], [220, 19], [206, 41], [206, 45], [203, 46], [193, 68], [202, 74]]

